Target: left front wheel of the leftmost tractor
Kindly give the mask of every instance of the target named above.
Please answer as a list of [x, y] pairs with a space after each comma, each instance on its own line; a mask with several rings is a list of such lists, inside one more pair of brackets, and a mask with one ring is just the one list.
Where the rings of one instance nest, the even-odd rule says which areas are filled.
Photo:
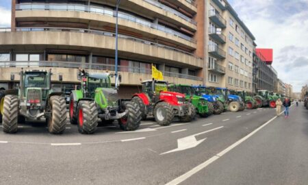
[[18, 97], [7, 95], [3, 100], [2, 127], [3, 132], [12, 134], [18, 130]]

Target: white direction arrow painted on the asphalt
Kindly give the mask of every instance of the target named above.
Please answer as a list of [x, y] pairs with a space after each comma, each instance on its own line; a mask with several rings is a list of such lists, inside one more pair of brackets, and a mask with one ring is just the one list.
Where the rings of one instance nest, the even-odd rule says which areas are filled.
[[198, 135], [201, 135], [201, 134], [205, 134], [207, 132], [211, 132], [211, 131], [214, 131], [214, 130], [218, 130], [218, 129], [222, 128], [222, 127], [223, 126], [216, 127], [214, 129], [207, 130], [205, 132], [200, 132], [200, 133], [197, 133], [197, 134], [193, 134], [191, 136], [186, 136], [184, 138], [179, 138], [179, 139], [177, 139], [177, 148], [176, 149], [172, 149], [170, 151], [166, 151], [164, 153], [160, 153], [159, 155], [164, 155], [166, 153], [172, 153], [172, 152], [175, 152], [175, 151], [182, 151], [182, 150], [185, 150], [185, 149], [190, 149], [190, 148], [196, 147], [200, 143], [202, 143], [206, 138], [201, 139], [201, 140], [196, 140], [195, 136], [198, 136]]

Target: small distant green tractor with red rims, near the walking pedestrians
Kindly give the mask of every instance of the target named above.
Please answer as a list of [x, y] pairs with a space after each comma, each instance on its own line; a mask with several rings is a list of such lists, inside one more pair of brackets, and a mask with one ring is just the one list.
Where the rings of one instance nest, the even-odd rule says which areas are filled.
[[268, 90], [258, 90], [257, 95], [253, 97], [257, 101], [257, 107], [270, 106], [270, 108], [276, 108], [276, 101], [279, 97]]

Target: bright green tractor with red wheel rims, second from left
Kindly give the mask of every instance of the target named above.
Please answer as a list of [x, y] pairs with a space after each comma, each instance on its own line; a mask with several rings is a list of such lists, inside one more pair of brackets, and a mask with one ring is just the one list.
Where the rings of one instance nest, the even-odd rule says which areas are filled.
[[[93, 134], [98, 119], [102, 123], [118, 121], [122, 130], [137, 130], [140, 126], [141, 111], [130, 99], [119, 99], [118, 90], [112, 88], [110, 79], [114, 74], [88, 73], [79, 70], [77, 78], [81, 89], [70, 94], [70, 123], [78, 125], [81, 134]], [[120, 75], [116, 78], [120, 82]]]

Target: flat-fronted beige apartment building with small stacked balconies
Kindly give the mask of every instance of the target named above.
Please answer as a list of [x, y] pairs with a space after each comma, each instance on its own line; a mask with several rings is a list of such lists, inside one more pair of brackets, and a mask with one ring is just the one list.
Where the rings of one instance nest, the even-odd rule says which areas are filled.
[[208, 86], [253, 92], [255, 37], [227, 1], [210, 0], [208, 8]]

